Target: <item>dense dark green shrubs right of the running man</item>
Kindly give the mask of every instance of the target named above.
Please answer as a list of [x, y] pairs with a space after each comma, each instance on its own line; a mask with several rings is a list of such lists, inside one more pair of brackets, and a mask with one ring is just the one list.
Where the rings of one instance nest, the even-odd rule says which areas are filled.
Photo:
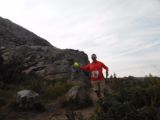
[[134, 77], [109, 82], [112, 92], [99, 102], [100, 112], [90, 120], [159, 120], [160, 79]]

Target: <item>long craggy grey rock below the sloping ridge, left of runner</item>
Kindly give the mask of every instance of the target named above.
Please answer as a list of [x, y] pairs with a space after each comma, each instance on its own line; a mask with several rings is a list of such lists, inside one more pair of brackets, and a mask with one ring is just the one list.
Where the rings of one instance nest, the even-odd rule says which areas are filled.
[[88, 57], [84, 52], [42, 46], [18, 46], [0, 51], [4, 64], [17, 63], [14, 69], [26, 75], [35, 74], [46, 80], [87, 79], [82, 71], [73, 70], [74, 61], [80, 62], [81, 65], [88, 63]]

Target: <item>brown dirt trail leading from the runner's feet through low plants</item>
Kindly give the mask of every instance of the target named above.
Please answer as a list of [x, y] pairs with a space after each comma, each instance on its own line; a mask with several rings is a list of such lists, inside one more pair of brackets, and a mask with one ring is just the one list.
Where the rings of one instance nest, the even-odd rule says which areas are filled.
[[[94, 114], [98, 99], [95, 96], [95, 93], [90, 93], [90, 96], [93, 100], [93, 105], [87, 108], [74, 110], [74, 113], [81, 114], [84, 118], [89, 118]], [[33, 120], [67, 120], [66, 113], [71, 112], [65, 108], [62, 108], [58, 100], [49, 104], [47, 109], [49, 110], [48, 114], [42, 113]]]

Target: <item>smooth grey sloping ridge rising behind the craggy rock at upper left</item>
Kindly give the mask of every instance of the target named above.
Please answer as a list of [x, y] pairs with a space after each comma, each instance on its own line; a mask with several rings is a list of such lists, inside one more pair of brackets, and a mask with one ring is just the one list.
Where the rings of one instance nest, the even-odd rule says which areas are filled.
[[21, 45], [51, 46], [49, 42], [29, 30], [0, 17], [0, 46], [11, 48]]

